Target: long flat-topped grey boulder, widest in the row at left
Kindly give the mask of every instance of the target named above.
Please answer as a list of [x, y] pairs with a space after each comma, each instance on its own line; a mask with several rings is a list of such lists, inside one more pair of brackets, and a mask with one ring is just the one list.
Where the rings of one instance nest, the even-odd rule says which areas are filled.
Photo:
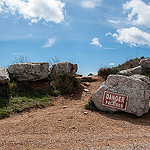
[[48, 78], [49, 63], [19, 63], [8, 67], [10, 76], [17, 81], [37, 81]]

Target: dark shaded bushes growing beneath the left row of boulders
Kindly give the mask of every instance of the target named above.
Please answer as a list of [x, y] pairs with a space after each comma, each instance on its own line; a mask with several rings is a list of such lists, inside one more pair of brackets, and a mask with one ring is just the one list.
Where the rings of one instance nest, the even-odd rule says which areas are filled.
[[[65, 73], [60, 73], [51, 83], [49, 81], [39, 82], [41, 83], [36, 85], [36, 82], [13, 81], [9, 85], [11, 96], [41, 98], [45, 96], [58, 96], [59, 94], [75, 93], [79, 90], [79, 82], [75, 76]], [[45, 83], [46, 87], [43, 86]], [[38, 86], [38, 88], [35, 87], [35, 85]]]

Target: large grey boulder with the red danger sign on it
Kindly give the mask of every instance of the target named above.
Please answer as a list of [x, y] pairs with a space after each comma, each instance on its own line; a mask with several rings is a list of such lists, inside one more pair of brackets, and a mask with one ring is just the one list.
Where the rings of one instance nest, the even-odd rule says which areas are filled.
[[142, 116], [149, 111], [149, 85], [149, 78], [143, 75], [109, 75], [91, 100], [102, 111], [125, 111]]

